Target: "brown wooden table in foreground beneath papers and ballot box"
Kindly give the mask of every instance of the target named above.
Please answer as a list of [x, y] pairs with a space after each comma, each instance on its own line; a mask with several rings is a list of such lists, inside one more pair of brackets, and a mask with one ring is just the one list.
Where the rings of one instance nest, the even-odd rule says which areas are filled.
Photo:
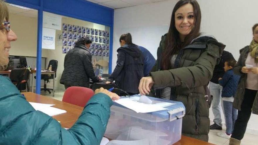
[[[29, 102], [55, 104], [55, 108], [66, 110], [64, 114], [52, 116], [54, 119], [60, 121], [60, 124], [64, 128], [71, 128], [72, 125], [77, 121], [79, 115], [81, 115], [83, 107], [65, 103], [59, 100], [55, 100], [43, 95], [38, 95], [32, 92], [23, 93]], [[191, 137], [182, 136], [181, 140], [176, 142], [174, 145], [214, 145]]]

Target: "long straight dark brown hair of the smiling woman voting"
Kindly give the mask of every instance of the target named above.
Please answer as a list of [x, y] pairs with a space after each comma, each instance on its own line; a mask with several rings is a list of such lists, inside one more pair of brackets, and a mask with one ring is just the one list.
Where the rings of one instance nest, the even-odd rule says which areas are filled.
[[[185, 37], [184, 42], [181, 42], [179, 38], [179, 32], [176, 30], [175, 26], [175, 12], [181, 6], [185, 4], [191, 4], [193, 6], [193, 13], [194, 13], [194, 26], [191, 32]], [[191, 41], [200, 35], [200, 25], [201, 25], [201, 9], [196, 0], [180, 0], [176, 3], [169, 26], [169, 31], [166, 36], [165, 42], [165, 51], [162, 52], [161, 64], [162, 70], [169, 69], [169, 62], [170, 57], [172, 54], [178, 52], [181, 48], [189, 45]]]

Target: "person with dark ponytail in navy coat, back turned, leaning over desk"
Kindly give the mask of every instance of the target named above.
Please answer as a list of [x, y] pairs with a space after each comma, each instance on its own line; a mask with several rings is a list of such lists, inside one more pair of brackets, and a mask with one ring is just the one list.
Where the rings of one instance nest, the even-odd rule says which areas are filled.
[[121, 47], [118, 48], [116, 68], [109, 76], [107, 84], [116, 81], [120, 89], [130, 95], [139, 93], [140, 79], [143, 74], [143, 54], [139, 47], [132, 42], [130, 33], [121, 35]]

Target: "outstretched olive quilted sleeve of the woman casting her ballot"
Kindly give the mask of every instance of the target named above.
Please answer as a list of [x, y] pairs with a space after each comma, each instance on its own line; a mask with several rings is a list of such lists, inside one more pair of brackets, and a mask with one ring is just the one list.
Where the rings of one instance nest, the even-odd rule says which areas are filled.
[[219, 49], [215, 44], [208, 45], [208, 48], [194, 62], [193, 66], [151, 72], [152, 79], [155, 82], [154, 88], [181, 85], [187, 85], [189, 88], [193, 88], [206, 85], [211, 80], [214, 67], [220, 56]]

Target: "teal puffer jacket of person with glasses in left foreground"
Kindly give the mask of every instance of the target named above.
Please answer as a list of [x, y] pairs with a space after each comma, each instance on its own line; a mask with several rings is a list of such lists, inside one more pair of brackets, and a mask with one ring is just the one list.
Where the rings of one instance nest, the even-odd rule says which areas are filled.
[[113, 104], [103, 93], [94, 95], [77, 122], [66, 130], [51, 116], [34, 110], [3, 76], [0, 76], [0, 92], [0, 144], [4, 145], [100, 144]]

